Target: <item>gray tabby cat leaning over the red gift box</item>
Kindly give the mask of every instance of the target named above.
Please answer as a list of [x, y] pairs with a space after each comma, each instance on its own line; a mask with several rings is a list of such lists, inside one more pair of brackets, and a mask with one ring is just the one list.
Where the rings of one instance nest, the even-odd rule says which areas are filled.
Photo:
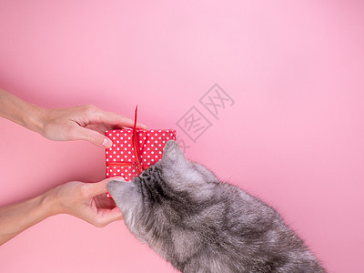
[[107, 187], [136, 238], [182, 272], [326, 272], [276, 210], [172, 140], [156, 165]]

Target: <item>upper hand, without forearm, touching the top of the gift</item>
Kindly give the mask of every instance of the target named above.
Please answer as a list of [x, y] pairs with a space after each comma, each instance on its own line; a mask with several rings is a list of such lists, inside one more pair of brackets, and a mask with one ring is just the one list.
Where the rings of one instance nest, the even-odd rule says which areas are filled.
[[[51, 140], [86, 140], [98, 147], [111, 147], [106, 130], [133, 127], [134, 120], [103, 111], [96, 106], [43, 109], [38, 111], [38, 133]], [[136, 124], [138, 129], [147, 126]]]

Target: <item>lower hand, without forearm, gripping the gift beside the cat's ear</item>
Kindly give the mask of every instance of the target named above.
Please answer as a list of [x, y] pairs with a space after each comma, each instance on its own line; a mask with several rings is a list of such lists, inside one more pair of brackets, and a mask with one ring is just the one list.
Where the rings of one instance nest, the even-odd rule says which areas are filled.
[[65, 213], [85, 220], [96, 227], [122, 219], [113, 198], [106, 197], [107, 178], [97, 183], [68, 182], [50, 193], [54, 200], [53, 213]]

